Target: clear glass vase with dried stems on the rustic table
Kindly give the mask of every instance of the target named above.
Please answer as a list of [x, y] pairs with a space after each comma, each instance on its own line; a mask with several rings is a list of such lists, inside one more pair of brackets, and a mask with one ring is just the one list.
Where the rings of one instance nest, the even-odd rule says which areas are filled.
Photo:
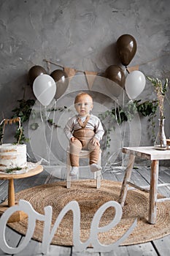
[[167, 144], [166, 144], [166, 135], [164, 132], [164, 122], [165, 122], [165, 116], [164, 116], [164, 99], [166, 96], [166, 90], [169, 83], [168, 78], [166, 78], [165, 83], [163, 84], [162, 81], [158, 78], [150, 78], [147, 76], [147, 79], [150, 80], [152, 85], [154, 86], [157, 100], [158, 100], [158, 108], [159, 108], [159, 130], [158, 135], [155, 140], [155, 149], [158, 150], [166, 150]]

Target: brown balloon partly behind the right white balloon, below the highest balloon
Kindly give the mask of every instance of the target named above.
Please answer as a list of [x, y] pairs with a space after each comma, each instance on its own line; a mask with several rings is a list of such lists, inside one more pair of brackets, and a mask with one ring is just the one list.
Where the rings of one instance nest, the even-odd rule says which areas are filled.
[[105, 71], [105, 78], [109, 78], [109, 80], [114, 81], [122, 88], [125, 87], [125, 73], [123, 69], [116, 65], [109, 66]]

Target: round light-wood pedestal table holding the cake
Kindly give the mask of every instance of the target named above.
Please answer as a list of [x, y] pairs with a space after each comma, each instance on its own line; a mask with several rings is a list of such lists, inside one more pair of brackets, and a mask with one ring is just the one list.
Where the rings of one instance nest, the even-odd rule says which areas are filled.
[[[0, 173], [0, 179], [8, 180], [8, 204], [1, 203], [0, 205], [0, 215], [4, 213], [10, 206], [15, 206], [15, 187], [14, 180], [16, 178], [28, 178], [34, 176], [36, 174], [42, 173], [43, 167], [42, 165], [37, 165], [31, 170], [28, 170], [27, 173], [19, 173], [19, 174], [6, 174]], [[23, 216], [26, 217], [26, 214], [21, 212], [16, 212], [16, 214], [12, 214], [12, 217], [9, 219], [9, 222], [16, 222], [23, 219]]]

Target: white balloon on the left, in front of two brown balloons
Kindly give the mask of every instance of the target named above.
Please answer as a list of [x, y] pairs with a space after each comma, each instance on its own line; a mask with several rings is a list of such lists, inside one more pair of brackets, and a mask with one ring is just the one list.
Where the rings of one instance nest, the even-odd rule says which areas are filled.
[[34, 80], [33, 91], [36, 99], [38, 99], [42, 105], [47, 106], [55, 96], [55, 80], [50, 75], [39, 75]]

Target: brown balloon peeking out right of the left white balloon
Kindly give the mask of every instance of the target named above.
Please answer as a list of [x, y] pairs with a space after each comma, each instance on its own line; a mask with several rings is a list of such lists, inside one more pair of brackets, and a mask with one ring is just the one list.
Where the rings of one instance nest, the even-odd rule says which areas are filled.
[[57, 85], [57, 90], [55, 94], [55, 98], [58, 99], [63, 95], [63, 93], [66, 91], [68, 85], [69, 85], [69, 78], [66, 75], [66, 72], [64, 72], [61, 69], [55, 69], [50, 76], [55, 80], [55, 83]]

